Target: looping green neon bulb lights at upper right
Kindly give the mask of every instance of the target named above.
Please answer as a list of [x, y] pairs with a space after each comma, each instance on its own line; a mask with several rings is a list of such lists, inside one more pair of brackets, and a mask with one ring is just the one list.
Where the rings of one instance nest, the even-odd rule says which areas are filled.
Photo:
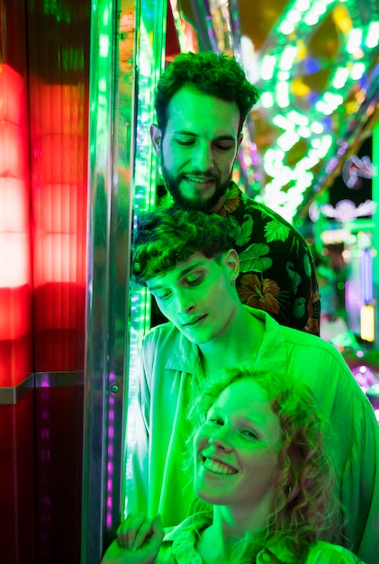
[[[263, 178], [261, 192], [257, 199], [270, 205], [288, 221], [293, 220], [299, 195], [303, 195], [314, 180], [312, 168], [320, 167], [320, 160], [327, 159], [329, 154], [337, 153], [337, 136], [331, 130], [333, 120], [325, 121], [325, 117], [340, 111], [350, 89], [356, 89], [357, 81], [364, 77], [371, 63], [372, 50], [379, 42], [379, 8], [374, 0], [369, 0], [371, 22], [362, 22], [356, 7], [356, 0], [293, 0], [282, 14], [281, 21], [267, 40], [266, 54], [262, 57], [259, 87], [263, 91], [260, 104], [269, 109], [268, 119], [284, 130], [271, 144], [270, 149], [262, 155], [266, 177]], [[296, 68], [303, 60], [304, 45], [311, 41], [316, 26], [329, 15], [336, 12], [338, 20], [339, 43], [341, 45], [335, 68], [329, 72], [329, 81], [325, 91], [315, 104], [310, 104], [306, 113], [294, 112], [298, 105], [293, 77], [304, 76], [302, 68]], [[344, 16], [343, 22], [338, 17]], [[343, 90], [342, 90], [343, 89]], [[365, 91], [356, 92], [356, 104], [344, 110], [347, 114], [356, 112], [359, 99], [365, 99]], [[271, 119], [270, 119], [271, 116]], [[347, 127], [347, 124], [345, 124]], [[320, 137], [321, 136], [321, 137]], [[338, 131], [338, 137], [343, 131]], [[305, 143], [306, 154], [294, 168], [285, 164], [286, 153], [301, 141]], [[278, 151], [279, 150], [279, 151]], [[304, 175], [304, 172], [307, 175]], [[271, 177], [271, 179], [270, 179]], [[285, 193], [281, 193], [285, 186]]]

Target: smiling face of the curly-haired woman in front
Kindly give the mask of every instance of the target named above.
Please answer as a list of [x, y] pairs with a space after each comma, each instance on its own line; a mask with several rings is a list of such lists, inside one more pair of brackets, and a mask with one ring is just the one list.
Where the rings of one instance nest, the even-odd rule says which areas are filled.
[[194, 435], [194, 491], [213, 505], [273, 508], [279, 418], [253, 378], [226, 387]]

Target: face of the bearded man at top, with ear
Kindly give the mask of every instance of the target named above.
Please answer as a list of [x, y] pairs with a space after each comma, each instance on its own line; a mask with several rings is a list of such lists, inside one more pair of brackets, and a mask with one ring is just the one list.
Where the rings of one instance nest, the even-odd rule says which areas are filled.
[[150, 129], [163, 175], [178, 205], [209, 212], [230, 185], [242, 137], [239, 108], [183, 86], [168, 105], [165, 135]]

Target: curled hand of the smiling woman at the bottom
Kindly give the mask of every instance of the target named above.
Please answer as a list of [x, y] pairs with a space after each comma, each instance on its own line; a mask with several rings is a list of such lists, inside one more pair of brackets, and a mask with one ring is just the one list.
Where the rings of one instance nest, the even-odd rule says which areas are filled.
[[164, 537], [160, 515], [153, 520], [145, 514], [130, 514], [104, 554], [102, 564], [153, 564]]

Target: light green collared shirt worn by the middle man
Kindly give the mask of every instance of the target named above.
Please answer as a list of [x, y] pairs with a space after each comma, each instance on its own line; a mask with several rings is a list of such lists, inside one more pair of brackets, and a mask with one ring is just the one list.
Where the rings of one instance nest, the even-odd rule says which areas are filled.
[[[331, 344], [279, 325], [264, 311], [248, 311], [266, 328], [252, 365], [301, 379], [329, 420], [326, 448], [347, 508], [347, 536], [366, 564], [378, 564], [379, 426], [372, 405]], [[190, 431], [185, 417], [199, 370], [197, 346], [172, 323], [155, 327], [144, 338], [127, 509], [160, 513], [164, 526], [181, 523], [194, 497], [192, 472], [183, 467]], [[344, 545], [342, 538], [338, 542]]]

